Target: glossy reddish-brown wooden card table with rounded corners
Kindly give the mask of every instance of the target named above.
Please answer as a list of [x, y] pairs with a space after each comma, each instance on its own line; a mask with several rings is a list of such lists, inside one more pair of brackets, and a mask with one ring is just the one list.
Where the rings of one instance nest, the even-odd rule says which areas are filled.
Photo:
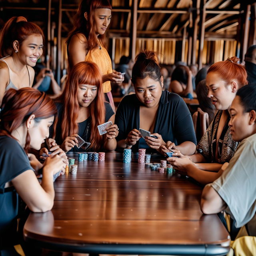
[[60, 176], [54, 187], [52, 211], [31, 213], [26, 221], [27, 242], [101, 254], [228, 252], [230, 238], [218, 216], [200, 211], [202, 187], [178, 174], [151, 171], [135, 159], [123, 164], [113, 152], [105, 162], [78, 163], [77, 174]]

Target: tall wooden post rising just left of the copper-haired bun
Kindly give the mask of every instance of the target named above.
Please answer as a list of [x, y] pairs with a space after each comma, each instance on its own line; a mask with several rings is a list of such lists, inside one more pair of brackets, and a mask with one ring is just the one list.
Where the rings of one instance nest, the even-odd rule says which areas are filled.
[[200, 2], [200, 21], [199, 21], [199, 49], [198, 49], [198, 70], [202, 68], [202, 55], [204, 50], [204, 22], [205, 22], [205, 4], [206, 0], [201, 0]]

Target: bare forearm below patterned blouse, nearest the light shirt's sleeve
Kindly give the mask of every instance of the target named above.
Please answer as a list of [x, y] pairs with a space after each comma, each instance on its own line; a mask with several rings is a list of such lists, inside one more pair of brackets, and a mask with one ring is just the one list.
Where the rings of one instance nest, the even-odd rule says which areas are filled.
[[216, 173], [200, 170], [196, 165], [191, 164], [188, 167], [187, 174], [189, 177], [193, 178], [201, 184], [208, 184], [219, 178], [222, 172]]

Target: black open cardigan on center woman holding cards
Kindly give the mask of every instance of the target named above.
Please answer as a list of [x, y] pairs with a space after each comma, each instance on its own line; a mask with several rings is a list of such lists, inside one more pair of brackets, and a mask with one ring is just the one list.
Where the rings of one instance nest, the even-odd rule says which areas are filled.
[[[139, 130], [140, 106], [142, 106], [142, 103], [138, 100], [136, 94], [125, 96], [120, 102], [115, 118], [115, 123], [119, 128], [117, 141], [126, 139], [131, 130]], [[170, 140], [176, 145], [185, 141], [196, 144], [191, 114], [186, 103], [178, 94], [168, 91], [162, 92], [153, 133], [161, 134], [165, 142]], [[132, 150], [138, 151], [138, 148], [141, 148], [140, 141], [132, 147]], [[151, 148], [149, 151], [156, 152]]]

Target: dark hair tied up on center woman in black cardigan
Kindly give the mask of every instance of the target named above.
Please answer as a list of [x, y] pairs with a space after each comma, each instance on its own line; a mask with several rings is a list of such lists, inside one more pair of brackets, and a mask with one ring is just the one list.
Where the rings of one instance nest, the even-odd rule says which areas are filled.
[[161, 83], [162, 75], [158, 55], [150, 50], [144, 50], [137, 54], [132, 68], [132, 83], [136, 84], [137, 78], [144, 79], [147, 76]]

